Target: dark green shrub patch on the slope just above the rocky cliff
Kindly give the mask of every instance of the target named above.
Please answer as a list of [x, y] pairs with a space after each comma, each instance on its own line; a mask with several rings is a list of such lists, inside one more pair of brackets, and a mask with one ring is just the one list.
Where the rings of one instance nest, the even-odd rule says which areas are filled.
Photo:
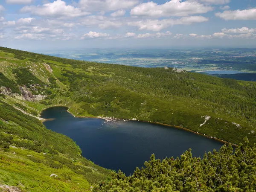
[[13, 73], [16, 73], [17, 83], [20, 85], [27, 87], [30, 87], [31, 84], [44, 85], [44, 82], [35, 77], [27, 68], [14, 69]]

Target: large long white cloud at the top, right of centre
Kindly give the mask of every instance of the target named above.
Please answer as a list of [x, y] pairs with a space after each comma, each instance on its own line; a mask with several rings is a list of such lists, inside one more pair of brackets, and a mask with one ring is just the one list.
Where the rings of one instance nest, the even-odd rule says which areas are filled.
[[196, 1], [171, 0], [164, 4], [158, 5], [154, 2], [141, 3], [131, 9], [130, 14], [133, 16], [147, 17], [166, 17], [166, 16], [188, 16], [212, 11], [212, 7]]

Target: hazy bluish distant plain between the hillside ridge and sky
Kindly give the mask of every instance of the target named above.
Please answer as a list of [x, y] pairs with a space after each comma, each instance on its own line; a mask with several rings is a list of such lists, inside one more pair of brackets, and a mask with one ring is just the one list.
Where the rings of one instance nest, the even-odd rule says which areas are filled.
[[79, 49], [42, 52], [47, 55], [137, 67], [176, 67], [189, 71], [256, 72], [256, 49]]

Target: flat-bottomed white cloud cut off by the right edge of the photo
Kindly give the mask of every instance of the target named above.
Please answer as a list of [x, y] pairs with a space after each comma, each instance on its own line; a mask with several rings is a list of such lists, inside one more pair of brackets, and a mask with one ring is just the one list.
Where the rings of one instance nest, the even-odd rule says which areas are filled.
[[224, 20], [256, 20], [256, 9], [218, 12], [215, 16]]

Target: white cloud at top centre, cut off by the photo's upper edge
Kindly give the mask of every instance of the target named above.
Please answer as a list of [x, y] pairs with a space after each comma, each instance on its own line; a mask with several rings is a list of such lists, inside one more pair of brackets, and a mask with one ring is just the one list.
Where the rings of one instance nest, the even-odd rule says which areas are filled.
[[138, 0], [79, 0], [82, 10], [93, 11], [116, 11], [134, 7]]

